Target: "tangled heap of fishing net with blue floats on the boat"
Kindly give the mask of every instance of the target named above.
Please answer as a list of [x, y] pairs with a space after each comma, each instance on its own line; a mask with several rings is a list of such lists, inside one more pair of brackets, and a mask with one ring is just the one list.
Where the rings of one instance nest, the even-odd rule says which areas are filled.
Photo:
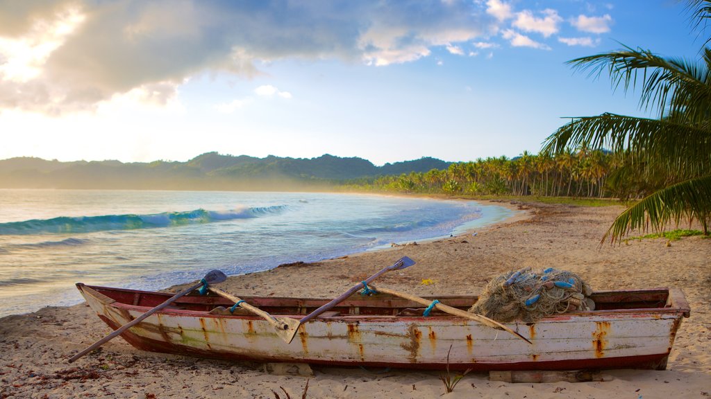
[[570, 271], [523, 268], [489, 281], [469, 312], [497, 322], [536, 322], [557, 313], [595, 310], [591, 294], [592, 288]]

